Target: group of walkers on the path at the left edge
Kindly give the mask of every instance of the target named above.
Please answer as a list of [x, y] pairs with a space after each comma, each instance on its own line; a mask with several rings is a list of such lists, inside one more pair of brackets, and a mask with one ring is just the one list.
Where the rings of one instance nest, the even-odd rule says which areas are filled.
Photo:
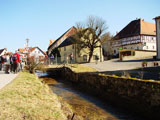
[[14, 54], [5, 53], [0, 56], [0, 71], [5, 71], [6, 74], [17, 73], [22, 69], [22, 60], [20, 55], [16, 52]]

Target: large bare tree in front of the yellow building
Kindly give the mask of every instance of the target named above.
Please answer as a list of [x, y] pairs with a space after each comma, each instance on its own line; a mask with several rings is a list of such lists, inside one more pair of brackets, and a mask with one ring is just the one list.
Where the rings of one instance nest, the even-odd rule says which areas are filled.
[[85, 24], [77, 24], [74, 39], [79, 51], [84, 48], [89, 50], [88, 62], [91, 61], [95, 48], [101, 47], [101, 36], [106, 29], [106, 22], [95, 16], [89, 16]]

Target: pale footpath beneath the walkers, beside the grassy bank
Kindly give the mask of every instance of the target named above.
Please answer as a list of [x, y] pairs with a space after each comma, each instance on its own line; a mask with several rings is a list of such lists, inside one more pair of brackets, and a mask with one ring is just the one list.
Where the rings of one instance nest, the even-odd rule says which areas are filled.
[[18, 74], [5, 74], [4, 71], [0, 71], [0, 89], [10, 83]]

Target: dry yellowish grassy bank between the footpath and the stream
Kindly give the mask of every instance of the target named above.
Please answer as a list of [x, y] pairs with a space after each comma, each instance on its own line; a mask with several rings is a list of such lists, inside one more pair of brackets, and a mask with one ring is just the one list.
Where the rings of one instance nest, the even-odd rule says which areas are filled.
[[67, 120], [62, 104], [32, 74], [20, 73], [0, 90], [0, 120]]

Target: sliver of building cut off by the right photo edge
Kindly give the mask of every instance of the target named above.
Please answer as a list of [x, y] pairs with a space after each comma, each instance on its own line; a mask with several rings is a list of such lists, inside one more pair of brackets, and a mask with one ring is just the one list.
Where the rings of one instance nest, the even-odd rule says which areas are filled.
[[160, 16], [154, 19], [156, 21], [157, 58], [160, 59]]

